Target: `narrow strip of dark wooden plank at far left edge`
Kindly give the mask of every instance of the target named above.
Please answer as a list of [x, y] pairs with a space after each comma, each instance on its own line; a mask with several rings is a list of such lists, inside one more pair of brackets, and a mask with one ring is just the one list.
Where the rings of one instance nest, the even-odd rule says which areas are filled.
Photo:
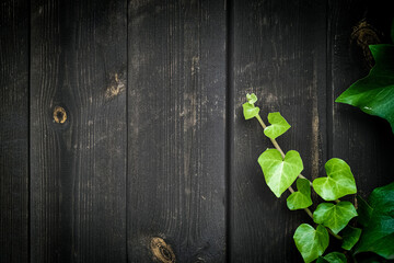
[[0, 3], [0, 262], [28, 260], [28, 2]]

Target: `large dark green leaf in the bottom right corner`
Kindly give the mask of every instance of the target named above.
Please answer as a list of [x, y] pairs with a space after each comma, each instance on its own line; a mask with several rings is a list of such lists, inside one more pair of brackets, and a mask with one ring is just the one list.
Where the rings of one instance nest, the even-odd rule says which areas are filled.
[[356, 253], [374, 252], [387, 260], [394, 259], [394, 182], [375, 188], [369, 197], [369, 213], [363, 214], [368, 220]]

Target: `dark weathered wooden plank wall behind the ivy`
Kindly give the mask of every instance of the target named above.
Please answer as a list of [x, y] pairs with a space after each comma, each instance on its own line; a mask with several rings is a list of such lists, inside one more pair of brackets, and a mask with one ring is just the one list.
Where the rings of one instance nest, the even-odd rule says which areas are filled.
[[265, 185], [241, 105], [282, 113], [310, 179], [338, 157], [362, 196], [393, 181], [389, 124], [334, 103], [386, 2], [2, 1], [0, 262], [301, 262], [310, 219]]

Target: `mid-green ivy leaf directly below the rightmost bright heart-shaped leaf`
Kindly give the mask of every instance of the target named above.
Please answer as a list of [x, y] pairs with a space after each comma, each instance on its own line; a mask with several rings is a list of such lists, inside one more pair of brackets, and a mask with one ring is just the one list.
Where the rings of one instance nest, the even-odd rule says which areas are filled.
[[323, 203], [313, 213], [313, 220], [338, 233], [356, 216], [356, 208], [350, 202], [339, 202], [336, 205]]

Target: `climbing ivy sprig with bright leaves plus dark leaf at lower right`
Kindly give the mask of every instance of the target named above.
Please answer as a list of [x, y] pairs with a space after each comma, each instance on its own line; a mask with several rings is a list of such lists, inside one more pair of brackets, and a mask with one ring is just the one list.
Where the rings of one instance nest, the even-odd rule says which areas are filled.
[[[294, 232], [296, 247], [304, 262], [347, 262], [345, 254], [339, 252], [323, 256], [329, 244], [329, 233], [340, 239], [341, 248], [352, 254], [374, 252], [385, 259], [394, 259], [394, 183], [376, 188], [371, 194], [369, 204], [360, 199], [360, 208], [356, 210], [350, 202], [339, 201], [357, 193], [350, 167], [344, 160], [333, 158], [325, 163], [326, 176], [310, 182], [301, 174], [303, 162], [300, 153], [296, 150], [285, 153], [276, 141], [277, 137], [290, 128], [288, 122], [278, 112], [269, 113], [270, 125], [266, 126], [259, 116], [259, 108], [254, 105], [257, 96], [247, 94], [246, 98], [247, 102], [243, 104], [245, 119], [256, 117], [264, 134], [276, 147], [265, 150], [257, 160], [268, 187], [278, 198], [289, 190], [291, 194], [287, 198], [288, 208], [304, 209], [317, 226], [314, 228], [309, 224], [301, 224]], [[292, 188], [294, 182], [297, 191]], [[312, 190], [325, 201], [318, 204], [313, 214], [309, 209], [313, 204]], [[359, 215], [363, 230], [349, 226], [350, 220]], [[393, 245], [385, 245], [387, 243]]]

